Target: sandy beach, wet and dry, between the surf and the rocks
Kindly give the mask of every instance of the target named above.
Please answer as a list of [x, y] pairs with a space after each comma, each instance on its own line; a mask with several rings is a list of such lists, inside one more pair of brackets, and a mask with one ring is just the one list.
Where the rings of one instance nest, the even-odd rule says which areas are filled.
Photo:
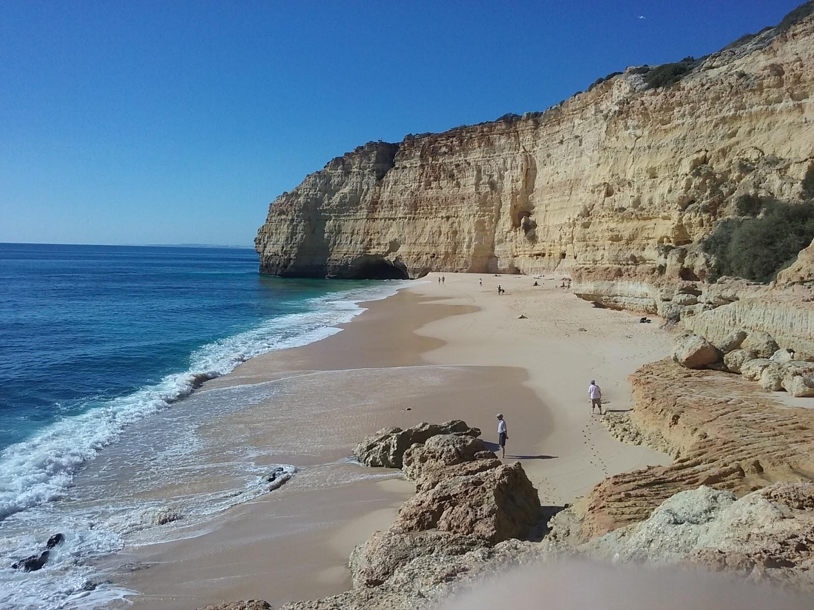
[[252, 359], [204, 386], [273, 384], [274, 399], [203, 434], [246, 438], [269, 464], [300, 472], [221, 513], [205, 533], [125, 549], [120, 560], [142, 568], [122, 579], [141, 593], [136, 608], [251, 598], [276, 606], [348, 588], [352, 547], [387, 527], [412, 490], [398, 472], [347, 460], [383, 427], [459, 418], [495, 441], [503, 412], [507, 461], [523, 462], [544, 505], [571, 502], [609, 474], [667, 463], [611, 438], [588, 400], [596, 379], [608, 408], [630, 407], [626, 377], [668, 350], [658, 320], [641, 325], [594, 308], [553, 278], [535, 287], [525, 276], [444, 276], [444, 285], [432, 274], [369, 303], [342, 333]]

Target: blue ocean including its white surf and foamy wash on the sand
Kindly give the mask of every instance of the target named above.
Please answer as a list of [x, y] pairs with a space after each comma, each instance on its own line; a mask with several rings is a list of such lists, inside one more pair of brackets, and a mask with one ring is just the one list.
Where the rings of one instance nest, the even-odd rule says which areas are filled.
[[[252, 356], [339, 332], [401, 282], [264, 277], [239, 248], [0, 244], [0, 285], [0, 608], [18, 610], [122, 599], [98, 581], [101, 557], [173, 511], [188, 524], [267, 493], [269, 464], [197, 430], [271, 394], [189, 397]], [[155, 490], [182, 470], [205, 493], [162, 492], [167, 508]], [[11, 568], [55, 533], [42, 570]]]

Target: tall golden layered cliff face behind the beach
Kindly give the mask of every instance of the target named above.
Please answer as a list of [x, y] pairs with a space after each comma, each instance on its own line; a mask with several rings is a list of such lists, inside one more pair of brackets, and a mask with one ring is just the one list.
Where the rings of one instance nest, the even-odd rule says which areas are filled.
[[636, 72], [542, 114], [332, 160], [269, 207], [261, 271], [557, 270], [619, 306], [703, 281], [698, 240], [738, 196], [796, 201], [814, 173], [814, 17], [713, 54], [676, 85], [646, 89]]

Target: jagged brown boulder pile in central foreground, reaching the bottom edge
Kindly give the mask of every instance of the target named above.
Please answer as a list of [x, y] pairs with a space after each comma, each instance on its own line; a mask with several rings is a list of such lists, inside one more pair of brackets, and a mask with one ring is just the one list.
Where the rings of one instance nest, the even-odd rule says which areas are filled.
[[[402, 505], [391, 529], [375, 532], [353, 550], [354, 588], [284, 608], [425, 608], [506, 562], [540, 556], [540, 544], [517, 539], [543, 516], [523, 467], [501, 464], [461, 421], [410, 430], [427, 434], [444, 427], [457, 434], [435, 434], [399, 456], [416, 494]], [[388, 449], [387, 455], [394, 454]]]

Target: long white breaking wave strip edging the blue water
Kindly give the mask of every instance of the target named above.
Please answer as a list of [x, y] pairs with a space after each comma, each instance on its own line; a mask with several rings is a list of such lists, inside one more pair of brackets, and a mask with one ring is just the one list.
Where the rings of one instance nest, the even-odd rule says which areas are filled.
[[65, 417], [0, 454], [0, 521], [15, 512], [59, 499], [87, 460], [115, 442], [133, 422], [164, 410], [201, 382], [229, 373], [253, 356], [303, 346], [338, 333], [336, 325], [364, 311], [357, 303], [394, 294], [401, 282], [347, 290], [313, 298], [312, 312], [280, 316], [255, 329], [222, 338], [190, 355], [184, 373], [167, 375], [153, 386]]

